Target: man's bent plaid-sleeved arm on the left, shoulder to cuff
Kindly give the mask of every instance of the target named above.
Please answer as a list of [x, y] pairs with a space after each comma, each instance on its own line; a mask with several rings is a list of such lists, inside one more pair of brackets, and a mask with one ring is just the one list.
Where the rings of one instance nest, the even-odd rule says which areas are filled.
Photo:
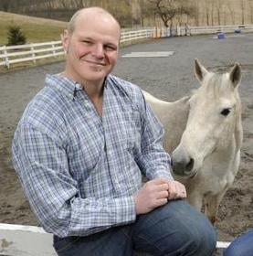
[[133, 197], [81, 198], [62, 144], [29, 124], [13, 141], [13, 162], [37, 218], [59, 237], [89, 235], [136, 218]]

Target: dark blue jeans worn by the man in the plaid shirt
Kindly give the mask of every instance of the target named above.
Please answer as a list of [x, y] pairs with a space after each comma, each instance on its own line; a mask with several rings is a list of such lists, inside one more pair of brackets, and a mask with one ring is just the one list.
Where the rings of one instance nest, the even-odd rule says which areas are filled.
[[208, 256], [216, 248], [216, 231], [206, 217], [184, 200], [139, 215], [130, 225], [87, 237], [58, 238], [59, 256], [132, 256], [133, 251], [151, 255]]

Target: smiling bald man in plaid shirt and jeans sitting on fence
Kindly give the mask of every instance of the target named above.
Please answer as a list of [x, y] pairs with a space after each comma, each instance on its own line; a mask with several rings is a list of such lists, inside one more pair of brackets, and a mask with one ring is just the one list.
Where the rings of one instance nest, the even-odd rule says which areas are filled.
[[58, 255], [211, 255], [215, 231], [180, 199], [163, 128], [142, 91], [110, 74], [120, 34], [98, 7], [71, 18], [65, 70], [47, 76], [16, 129], [16, 172]]

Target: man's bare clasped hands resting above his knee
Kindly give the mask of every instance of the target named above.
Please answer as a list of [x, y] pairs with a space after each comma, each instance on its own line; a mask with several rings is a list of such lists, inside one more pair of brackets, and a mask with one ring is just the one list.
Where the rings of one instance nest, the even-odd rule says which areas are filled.
[[186, 197], [184, 185], [165, 178], [148, 181], [133, 195], [137, 214], [148, 213], [154, 208], [165, 205], [168, 200], [184, 197]]

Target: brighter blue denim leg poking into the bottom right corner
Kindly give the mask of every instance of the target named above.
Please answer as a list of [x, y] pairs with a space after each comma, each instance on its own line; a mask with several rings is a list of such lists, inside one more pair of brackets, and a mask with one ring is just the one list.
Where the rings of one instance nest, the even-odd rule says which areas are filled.
[[223, 254], [224, 256], [253, 255], [253, 230], [232, 241]]

